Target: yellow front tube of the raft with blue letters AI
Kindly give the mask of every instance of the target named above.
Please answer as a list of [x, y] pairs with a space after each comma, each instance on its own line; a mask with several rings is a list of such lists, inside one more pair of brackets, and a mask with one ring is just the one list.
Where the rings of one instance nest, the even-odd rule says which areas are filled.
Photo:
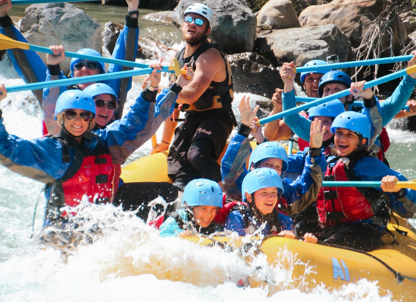
[[[399, 216], [396, 218], [398, 224], [390, 223], [388, 228], [396, 234], [397, 244], [390, 244], [392, 236], [386, 234], [386, 244], [371, 252], [306, 243], [280, 236], [266, 237], [260, 244], [260, 251], [267, 256], [269, 265], [292, 272], [290, 285], [279, 285], [279, 282], [262, 280], [258, 276], [250, 276], [249, 284], [251, 287], [267, 287], [272, 295], [288, 287], [308, 292], [320, 284], [324, 284], [328, 290], [336, 290], [343, 285], [366, 279], [377, 282], [381, 296], [391, 294], [393, 300], [414, 302], [416, 230], [405, 219]], [[396, 228], [407, 232], [407, 235], [396, 233]], [[220, 242], [232, 248], [243, 242], [243, 237], [237, 240], [229, 237], [213, 237], [210, 240], [198, 236], [186, 239], [202, 245]], [[291, 257], [287, 256], [288, 252]]]

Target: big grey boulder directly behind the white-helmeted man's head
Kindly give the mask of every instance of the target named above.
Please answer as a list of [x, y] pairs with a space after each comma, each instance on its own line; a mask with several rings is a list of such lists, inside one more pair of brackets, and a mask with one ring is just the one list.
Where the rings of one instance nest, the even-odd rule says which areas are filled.
[[[195, 0], [180, 0], [175, 8], [173, 22], [181, 26], [183, 12]], [[204, 3], [212, 10], [214, 22], [208, 37], [217, 43], [223, 52], [235, 54], [253, 50], [256, 17], [247, 6], [246, 0], [206, 0]]]

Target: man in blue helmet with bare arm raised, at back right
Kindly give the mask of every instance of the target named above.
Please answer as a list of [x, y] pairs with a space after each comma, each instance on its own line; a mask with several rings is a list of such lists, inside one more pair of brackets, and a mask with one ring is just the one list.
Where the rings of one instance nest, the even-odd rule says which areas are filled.
[[[307, 62], [304, 67], [307, 66], [316, 66], [316, 65], [326, 65], [327, 62], [322, 60], [312, 60]], [[300, 73], [300, 82], [303, 83], [303, 89], [305, 90], [305, 93], [310, 98], [319, 98], [318, 93], [318, 86], [319, 86], [319, 80], [321, 77], [327, 73], [329, 69], [325, 70], [317, 70], [312, 72], [301, 72]], [[282, 112], [282, 89], [276, 89], [276, 92], [272, 96], [272, 104], [273, 104], [273, 110], [270, 112], [270, 115], [274, 115], [277, 113]], [[288, 140], [290, 137], [293, 136], [292, 130], [289, 128], [288, 125], [286, 125], [285, 121], [280, 120], [274, 120], [270, 123], [266, 123], [264, 125], [264, 135], [269, 140]], [[300, 150], [303, 151], [302, 146], [302, 139], [299, 142], [298, 145], [300, 147]], [[307, 142], [306, 142], [307, 143]]]

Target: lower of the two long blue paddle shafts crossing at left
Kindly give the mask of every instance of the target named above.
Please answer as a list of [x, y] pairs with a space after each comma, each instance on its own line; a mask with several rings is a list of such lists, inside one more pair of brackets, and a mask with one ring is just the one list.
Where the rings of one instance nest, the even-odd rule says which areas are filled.
[[[25, 91], [25, 90], [35, 90], [35, 89], [43, 89], [46, 87], [59, 87], [59, 86], [68, 86], [80, 83], [91, 83], [91, 82], [102, 82], [105, 80], [111, 79], [120, 79], [120, 78], [129, 78], [131, 76], [138, 76], [141, 74], [150, 74], [153, 68], [142, 68], [142, 69], [133, 69], [133, 70], [126, 70], [126, 71], [118, 71], [118, 72], [110, 72], [106, 74], [97, 74], [94, 76], [81, 76], [72, 79], [62, 79], [56, 81], [46, 81], [46, 82], [39, 82], [39, 83], [30, 83], [26, 85], [19, 85], [19, 86], [10, 86], [7, 88], [7, 92], [17, 92], [17, 91]], [[157, 72], [174, 72], [169, 71], [169, 66], [163, 66], [161, 71]]]

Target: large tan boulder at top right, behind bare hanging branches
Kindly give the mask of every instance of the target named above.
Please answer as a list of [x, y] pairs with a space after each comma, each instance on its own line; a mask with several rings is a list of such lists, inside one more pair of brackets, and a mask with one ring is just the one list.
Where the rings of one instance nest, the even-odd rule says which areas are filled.
[[[370, 29], [371, 22], [389, 5], [389, 0], [333, 0], [305, 8], [299, 15], [299, 21], [302, 27], [334, 24], [348, 37], [352, 47], [357, 48]], [[402, 41], [406, 40], [406, 33], [401, 32], [399, 16], [396, 14], [392, 18], [394, 20], [390, 27], [393, 33], [393, 48], [395, 52], [399, 52], [403, 46]], [[388, 49], [390, 43], [390, 35], [384, 35], [384, 49]]]

